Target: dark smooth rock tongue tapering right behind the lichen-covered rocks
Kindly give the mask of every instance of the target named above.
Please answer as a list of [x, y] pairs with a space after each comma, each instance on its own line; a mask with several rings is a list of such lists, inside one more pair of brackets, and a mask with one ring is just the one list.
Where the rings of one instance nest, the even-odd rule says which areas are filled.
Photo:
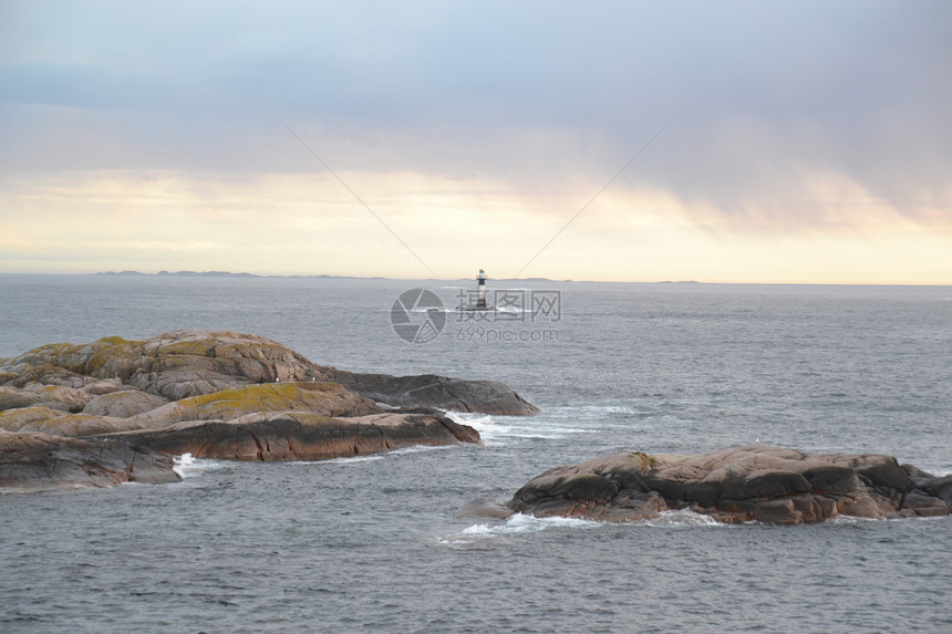
[[335, 368], [324, 368], [324, 373], [352, 392], [394, 407], [437, 407], [501, 416], [530, 416], [539, 412], [497, 381], [463, 381], [435, 374], [354, 374]]

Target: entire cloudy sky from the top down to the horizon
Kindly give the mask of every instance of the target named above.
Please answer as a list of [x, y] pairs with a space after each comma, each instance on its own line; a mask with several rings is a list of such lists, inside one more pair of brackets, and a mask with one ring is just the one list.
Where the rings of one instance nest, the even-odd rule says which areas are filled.
[[952, 2], [0, 0], [0, 272], [952, 284]]

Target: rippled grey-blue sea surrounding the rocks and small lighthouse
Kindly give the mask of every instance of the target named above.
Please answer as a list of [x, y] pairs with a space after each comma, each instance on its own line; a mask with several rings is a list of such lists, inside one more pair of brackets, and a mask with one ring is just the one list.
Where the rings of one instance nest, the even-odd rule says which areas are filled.
[[490, 280], [493, 320], [394, 332], [403, 291], [453, 308], [468, 285], [0, 276], [0, 357], [235, 330], [358, 372], [504, 381], [542, 409], [459, 416], [484, 447], [186, 456], [178, 484], [0, 496], [0, 632], [952, 632], [950, 518], [454, 517], [618, 450], [762, 443], [952, 472], [952, 288]]

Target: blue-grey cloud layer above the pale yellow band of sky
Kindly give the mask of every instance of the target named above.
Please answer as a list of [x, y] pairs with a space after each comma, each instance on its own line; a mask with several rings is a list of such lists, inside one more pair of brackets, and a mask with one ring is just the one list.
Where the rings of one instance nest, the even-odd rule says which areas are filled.
[[313, 168], [283, 121], [341, 169], [602, 181], [672, 119], [617, 187], [741, 224], [821, 221], [818, 175], [911, 217], [950, 205], [946, 2], [3, 11], [8, 169]]

